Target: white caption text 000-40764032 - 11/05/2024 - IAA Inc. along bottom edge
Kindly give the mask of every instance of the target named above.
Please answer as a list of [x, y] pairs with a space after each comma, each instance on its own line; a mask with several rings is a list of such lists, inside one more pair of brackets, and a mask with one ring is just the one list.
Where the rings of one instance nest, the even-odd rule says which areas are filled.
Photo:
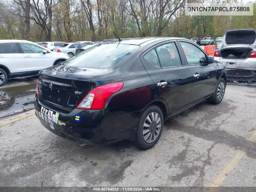
[[160, 191], [157, 187], [94, 187], [94, 191]]

